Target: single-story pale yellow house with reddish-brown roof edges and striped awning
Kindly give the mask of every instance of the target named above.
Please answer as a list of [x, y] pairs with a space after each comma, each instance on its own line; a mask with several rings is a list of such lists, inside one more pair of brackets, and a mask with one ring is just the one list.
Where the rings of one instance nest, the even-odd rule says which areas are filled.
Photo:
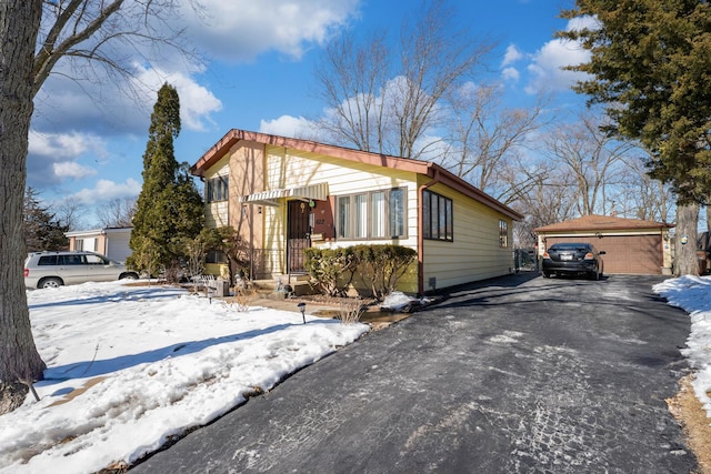
[[253, 279], [303, 273], [308, 246], [361, 243], [418, 251], [401, 282], [410, 293], [511, 272], [522, 215], [434, 163], [230, 130], [191, 172], [204, 182], [207, 226], [249, 242]]

